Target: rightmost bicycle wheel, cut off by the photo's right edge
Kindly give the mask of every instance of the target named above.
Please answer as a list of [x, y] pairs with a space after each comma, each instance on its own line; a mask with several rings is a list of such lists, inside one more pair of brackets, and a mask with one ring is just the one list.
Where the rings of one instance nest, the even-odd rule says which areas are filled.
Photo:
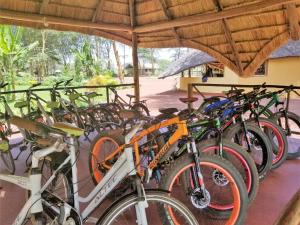
[[287, 159], [300, 157], [300, 117], [287, 112], [287, 121], [284, 112], [275, 113], [274, 120], [285, 131], [289, 146]]

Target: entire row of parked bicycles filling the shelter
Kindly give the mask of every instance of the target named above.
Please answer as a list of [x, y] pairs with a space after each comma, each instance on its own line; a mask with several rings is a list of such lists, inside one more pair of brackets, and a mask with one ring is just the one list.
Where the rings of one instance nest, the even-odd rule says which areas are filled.
[[[281, 94], [297, 93], [293, 86], [235, 89], [204, 99], [197, 109], [165, 108], [151, 117], [145, 101], [132, 102], [129, 95], [127, 103], [115, 89], [111, 103], [99, 104], [92, 100], [97, 93], [57, 90], [62, 84], [54, 85], [51, 102], [30, 88], [26, 101], [15, 104], [21, 117], [0, 97], [4, 165], [14, 172], [10, 150], [17, 144], [32, 152], [29, 179], [0, 175], [29, 190], [15, 224], [83, 224], [104, 199], [114, 203], [97, 216], [98, 224], [243, 224], [259, 181], [286, 158], [300, 156], [300, 117], [280, 100]], [[13, 125], [23, 136], [14, 146]], [[85, 198], [78, 193], [76, 167], [82, 135], [91, 143], [95, 183]], [[84, 202], [89, 204], [81, 211]]]

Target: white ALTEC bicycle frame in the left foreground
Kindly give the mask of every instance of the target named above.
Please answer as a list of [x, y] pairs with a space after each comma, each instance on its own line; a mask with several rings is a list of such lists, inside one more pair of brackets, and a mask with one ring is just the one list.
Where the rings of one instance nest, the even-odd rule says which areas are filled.
[[[62, 146], [64, 145], [64, 146]], [[32, 167], [38, 168], [39, 159], [49, 155], [52, 152], [57, 151], [57, 148], [65, 147], [65, 144], [57, 144], [34, 152]], [[59, 151], [61, 151], [60, 149]], [[56, 173], [66, 164], [70, 163], [72, 166], [72, 183], [74, 190], [74, 208], [77, 212], [80, 212], [80, 203], [89, 203], [88, 206], [80, 213], [81, 220], [84, 221], [88, 216], [98, 207], [99, 204], [105, 199], [105, 197], [128, 175], [136, 175], [136, 169], [134, 165], [133, 152], [131, 147], [126, 147], [122, 155], [113, 165], [113, 167], [108, 171], [108, 173], [103, 177], [102, 181], [90, 192], [86, 197], [81, 197], [78, 194], [78, 179], [77, 179], [77, 167], [76, 167], [76, 148], [74, 146], [74, 139], [71, 138], [69, 147], [69, 156], [64, 160], [64, 162], [53, 172], [53, 175], [48, 179], [43, 187], [41, 187], [41, 174], [32, 174], [29, 178], [15, 176], [15, 175], [1, 175], [0, 180], [8, 181], [10, 183], [16, 184], [23, 189], [30, 190], [32, 195], [25, 203], [20, 213], [16, 217], [13, 225], [22, 225], [26, 219], [27, 213], [39, 213], [43, 211], [42, 206], [42, 192], [51, 184], [54, 180]], [[141, 187], [143, 188], [143, 187]], [[143, 192], [142, 192], [143, 193]], [[146, 198], [141, 199], [141, 203], [136, 206], [136, 210], [140, 214], [141, 223], [147, 224], [147, 218], [145, 214], [145, 208], [147, 207]], [[52, 206], [53, 207], [53, 206]], [[68, 204], [64, 204], [64, 208], [73, 208]], [[65, 212], [68, 212], [65, 210]], [[70, 210], [69, 210], [70, 212]], [[67, 218], [69, 215], [64, 215]]]

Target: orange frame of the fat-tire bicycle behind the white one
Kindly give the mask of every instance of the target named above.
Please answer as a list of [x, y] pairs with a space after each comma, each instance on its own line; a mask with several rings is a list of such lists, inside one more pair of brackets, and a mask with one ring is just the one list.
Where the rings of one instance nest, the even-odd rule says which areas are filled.
[[[183, 136], [187, 136], [188, 135], [188, 130], [187, 130], [187, 125], [186, 125], [186, 121], [180, 121], [179, 117], [175, 117], [169, 120], [165, 120], [161, 123], [152, 125], [151, 127], [142, 130], [139, 134], [137, 134], [136, 136], [134, 136], [132, 138], [132, 140], [130, 141], [130, 145], [133, 146], [133, 151], [135, 154], [135, 162], [136, 162], [136, 168], [137, 168], [137, 173], [140, 176], [143, 176], [143, 171], [141, 169], [140, 166], [140, 153], [139, 153], [139, 149], [138, 149], [138, 142], [145, 137], [146, 135], [159, 130], [160, 128], [163, 127], [168, 127], [170, 125], [177, 125], [177, 129], [174, 132], [174, 134], [169, 138], [169, 140], [165, 143], [165, 145], [159, 150], [159, 152], [155, 155], [154, 159], [149, 163], [148, 168], [150, 170], [153, 170], [159, 160], [162, 158], [162, 156], [165, 155], [165, 153], [170, 149], [170, 147], [176, 142], [178, 141], [180, 138], [182, 138]], [[112, 158], [114, 158], [117, 154], [119, 154], [120, 152], [123, 152], [124, 149], [126, 148], [126, 144], [119, 146], [114, 152], [112, 152], [109, 156], [107, 156], [104, 159], [104, 162], [101, 163], [101, 166], [103, 166], [104, 168], [110, 169], [111, 167], [109, 165], [106, 164], [106, 162]], [[109, 170], [110, 171], [110, 170]]]

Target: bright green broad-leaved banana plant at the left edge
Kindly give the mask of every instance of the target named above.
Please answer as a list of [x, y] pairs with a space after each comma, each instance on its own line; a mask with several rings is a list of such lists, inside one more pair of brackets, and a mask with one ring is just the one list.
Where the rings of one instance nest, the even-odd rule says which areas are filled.
[[1, 80], [9, 83], [8, 90], [16, 90], [16, 75], [24, 69], [30, 53], [38, 45], [34, 42], [24, 46], [22, 33], [23, 28], [0, 25], [0, 73]]

